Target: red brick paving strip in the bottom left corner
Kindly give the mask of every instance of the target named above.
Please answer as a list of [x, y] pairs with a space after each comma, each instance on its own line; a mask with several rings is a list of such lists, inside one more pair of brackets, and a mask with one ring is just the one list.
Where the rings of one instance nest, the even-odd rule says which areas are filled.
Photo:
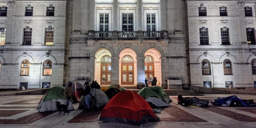
[[36, 112], [36, 113], [29, 114], [27, 116], [18, 118], [17, 120], [0, 119], [0, 124], [30, 124], [30, 123], [33, 123], [34, 121], [41, 119], [41, 118], [49, 116], [52, 113], [54, 113], [54, 112], [42, 112], [42, 113]]

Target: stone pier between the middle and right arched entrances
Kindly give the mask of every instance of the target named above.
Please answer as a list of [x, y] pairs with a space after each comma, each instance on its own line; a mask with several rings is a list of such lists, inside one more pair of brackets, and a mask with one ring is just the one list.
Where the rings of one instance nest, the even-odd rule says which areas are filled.
[[137, 57], [137, 83], [145, 82], [145, 57]]

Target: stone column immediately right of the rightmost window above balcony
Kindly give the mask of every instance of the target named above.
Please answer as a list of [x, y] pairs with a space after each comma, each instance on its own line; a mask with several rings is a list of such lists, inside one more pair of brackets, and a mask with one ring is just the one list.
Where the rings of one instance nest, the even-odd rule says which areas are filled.
[[166, 30], [166, 0], [160, 0], [161, 6], [161, 30]]

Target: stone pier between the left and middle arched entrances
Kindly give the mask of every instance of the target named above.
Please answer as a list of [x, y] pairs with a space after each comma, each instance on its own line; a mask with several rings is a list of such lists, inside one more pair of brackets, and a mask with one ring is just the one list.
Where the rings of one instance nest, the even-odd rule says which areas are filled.
[[119, 57], [111, 57], [111, 84], [119, 86]]

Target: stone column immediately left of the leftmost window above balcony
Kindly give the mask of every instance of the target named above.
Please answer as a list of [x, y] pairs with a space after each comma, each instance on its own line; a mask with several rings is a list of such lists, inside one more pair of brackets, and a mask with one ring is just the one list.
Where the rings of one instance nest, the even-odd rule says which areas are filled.
[[95, 0], [89, 0], [89, 30], [94, 30]]

